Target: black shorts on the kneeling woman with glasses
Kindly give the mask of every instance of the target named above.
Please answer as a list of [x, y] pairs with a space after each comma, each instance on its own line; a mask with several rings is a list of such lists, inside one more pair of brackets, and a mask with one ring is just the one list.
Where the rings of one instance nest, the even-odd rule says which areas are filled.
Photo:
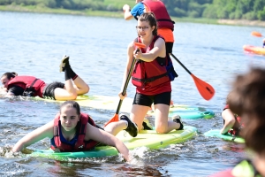
[[155, 96], [146, 96], [136, 93], [134, 96], [133, 104], [145, 105], [151, 107], [154, 104], [167, 104], [170, 105], [171, 92], [163, 92]]

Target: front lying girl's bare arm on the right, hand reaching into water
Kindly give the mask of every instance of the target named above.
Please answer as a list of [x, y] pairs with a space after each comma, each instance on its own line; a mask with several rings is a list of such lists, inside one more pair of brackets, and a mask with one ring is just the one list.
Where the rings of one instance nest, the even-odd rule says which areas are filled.
[[97, 127], [91, 126], [87, 123], [87, 132], [85, 140], [94, 140], [95, 142], [102, 142], [104, 144], [113, 146], [123, 155], [126, 161], [129, 161], [129, 150], [125, 146], [124, 142], [117, 139], [116, 136], [111, 135], [108, 132], [103, 131]]

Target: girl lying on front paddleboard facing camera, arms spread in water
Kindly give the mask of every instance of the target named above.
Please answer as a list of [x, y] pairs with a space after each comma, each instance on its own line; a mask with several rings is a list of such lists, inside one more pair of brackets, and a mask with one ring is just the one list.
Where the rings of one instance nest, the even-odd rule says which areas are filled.
[[115, 147], [128, 161], [129, 150], [115, 136], [123, 129], [133, 137], [138, 134], [138, 127], [123, 114], [119, 121], [111, 122], [102, 129], [102, 127], [95, 125], [94, 120], [89, 115], [80, 112], [77, 102], [66, 101], [61, 104], [60, 112], [55, 119], [25, 135], [15, 144], [12, 151], [18, 152], [49, 137], [50, 148], [55, 151], [93, 150], [101, 142]]

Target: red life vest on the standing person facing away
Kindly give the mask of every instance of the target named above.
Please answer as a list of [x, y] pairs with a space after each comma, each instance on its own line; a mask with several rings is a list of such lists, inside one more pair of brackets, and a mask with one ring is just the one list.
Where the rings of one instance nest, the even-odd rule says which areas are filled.
[[153, 12], [155, 14], [155, 19], [157, 21], [157, 27], [158, 28], [170, 28], [172, 31], [174, 31], [174, 24], [175, 22], [170, 19], [170, 15], [161, 1], [152, 1], [152, 0], [144, 0], [142, 1], [143, 4], [145, 4], [149, 12]]

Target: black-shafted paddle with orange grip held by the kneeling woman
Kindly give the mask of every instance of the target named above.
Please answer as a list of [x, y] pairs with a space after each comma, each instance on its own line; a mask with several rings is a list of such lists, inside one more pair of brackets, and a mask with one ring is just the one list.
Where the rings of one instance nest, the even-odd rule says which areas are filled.
[[[134, 46], [138, 47], [137, 51], [139, 51], [140, 48], [145, 48], [145, 47], [146, 47], [145, 44], [140, 43], [140, 42], [134, 42]], [[132, 75], [132, 73], [133, 73], [133, 67], [134, 67], [134, 65], [135, 65], [135, 62], [136, 62], [136, 59], [133, 58], [133, 63], [132, 63], [132, 65], [131, 65], [131, 67], [130, 67], [129, 73], [128, 73], [127, 78], [126, 78], [126, 81], [125, 81], [125, 86], [124, 86], [124, 89], [123, 89], [123, 92], [122, 92], [122, 95], [123, 95], [123, 96], [125, 96], [126, 89], [127, 89], [127, 87], [128, 87], [128, 83], [129, 83], [129, 81], [130, 81], [130, 79], [131, 79], [131, 75]], [[115, 115], [113, 116], [113, 118], [111, 118], [111, 119], [110, 119], [110, 120], [104, 125], [104, 127], [106, 127], [108, 124], [110, 124], [110, 122], [115, 122], [115, 121], [118, 121], [118, 120], [119, 120], [119, 119], [118, 119], [118, 112], [119, 112], [119, 110], [120, 110], [120, 107], [121, 107], [122, 103], [123, 103], [123, 100], [122, 100], [122, 99], [119, 99], [119, 102], [118, 102], [118, 104], [117, 104], [117, 110], [116, 110], [116, 112], [115, 112]]]

